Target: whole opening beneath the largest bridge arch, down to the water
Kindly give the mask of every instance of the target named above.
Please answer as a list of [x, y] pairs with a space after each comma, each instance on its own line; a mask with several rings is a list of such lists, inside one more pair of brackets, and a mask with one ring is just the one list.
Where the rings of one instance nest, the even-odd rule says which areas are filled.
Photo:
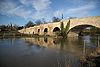
[[100, 34], [100, 29], [92, 25], [78, 25], [70, 29], [69, 33], [74, 32], [79, 36]]

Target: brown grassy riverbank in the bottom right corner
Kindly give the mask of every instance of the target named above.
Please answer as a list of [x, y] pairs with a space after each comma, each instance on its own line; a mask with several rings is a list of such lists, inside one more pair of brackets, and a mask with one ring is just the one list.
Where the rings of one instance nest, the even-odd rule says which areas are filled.
[[83, 67], [99, 67], [100, 66], [100, 47], [96, 48], [89, 55], [81, 56], [80, 62]]

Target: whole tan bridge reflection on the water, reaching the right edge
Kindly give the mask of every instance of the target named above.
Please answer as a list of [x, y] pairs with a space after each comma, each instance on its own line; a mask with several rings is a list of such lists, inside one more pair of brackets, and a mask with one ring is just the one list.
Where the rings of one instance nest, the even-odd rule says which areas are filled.
[[[100, 36], [70, 37], [67, 39], [58, 38], [22, 38], [32, 45], [60, 49], [74, 56], [91, 55], [94, 51], [100, 52]], [[31, 46], [32, 46], [31, 45]]]

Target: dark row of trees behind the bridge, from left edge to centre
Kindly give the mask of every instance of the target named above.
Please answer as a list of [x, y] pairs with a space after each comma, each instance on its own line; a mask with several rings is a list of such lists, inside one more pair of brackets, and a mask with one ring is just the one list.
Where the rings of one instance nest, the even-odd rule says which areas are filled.
[[[61, 19], [57, 18], [57, 17], [53, 17], [52, 18], [52, 22], [59, 22]], [[42, 18], [42, 20], [36, 20], [34, 23], [32, 21], [28, 21], [24, 26], [19, 26], [16, 24], [8, 24], [8, 25], [0, 25], [0, 31], [17, 31], [23, 28], [28, 28], [28, 27], [33, 27], [36, 25], [40, 25], [40, 24], [45, 24], [47, 23], [45, 21], [44, 18]]]

